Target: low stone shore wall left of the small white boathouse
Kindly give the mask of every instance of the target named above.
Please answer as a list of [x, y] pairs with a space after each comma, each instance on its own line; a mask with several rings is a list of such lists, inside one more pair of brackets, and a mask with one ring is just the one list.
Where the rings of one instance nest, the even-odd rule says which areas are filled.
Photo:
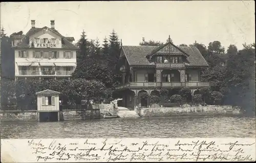
[[36, 111], [1, 112], [0, 121], [37, 121]]

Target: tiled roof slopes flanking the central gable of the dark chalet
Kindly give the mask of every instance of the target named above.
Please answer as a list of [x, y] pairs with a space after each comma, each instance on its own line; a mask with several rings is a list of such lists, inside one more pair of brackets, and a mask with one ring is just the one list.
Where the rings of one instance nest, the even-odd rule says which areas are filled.
[[[151, 54], [158, 48], [159, 46], [122, 46], [130, 65], [155, 65], [154, 62], [150, 62], [146, 58], [146, 55]], [[189, 55], [186, 66], [208, 66], [204, 57], [195, 46], [178, 46], [178, 48]]]

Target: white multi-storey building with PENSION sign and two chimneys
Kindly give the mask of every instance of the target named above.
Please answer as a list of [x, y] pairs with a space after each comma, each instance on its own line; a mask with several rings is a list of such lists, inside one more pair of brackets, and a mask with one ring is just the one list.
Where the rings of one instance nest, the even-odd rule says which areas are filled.
[[31, 29], [12, 41], [15, 64], [15, 80], [27, 78], [70, 78], [76, 68], [76, 51], [73, 37], [64, 37], [55, 29], [36, 28], [31, 20]]

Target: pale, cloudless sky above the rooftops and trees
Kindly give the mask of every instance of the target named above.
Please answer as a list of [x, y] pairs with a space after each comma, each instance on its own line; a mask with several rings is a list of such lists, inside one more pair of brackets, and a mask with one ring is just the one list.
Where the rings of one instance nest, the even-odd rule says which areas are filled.
[[220, 41], [243, 48], [255, 42], [254, 1], [87, 1], [1, 3], [1, 27], [7, 35], [27, 31], [31, 19], [36, 27], [51, 27], [63, 36], [79, 39], [82, 30], [89, 39], [103, 42], [113, 29], [123, 45], [145, 40], [174, 44]]

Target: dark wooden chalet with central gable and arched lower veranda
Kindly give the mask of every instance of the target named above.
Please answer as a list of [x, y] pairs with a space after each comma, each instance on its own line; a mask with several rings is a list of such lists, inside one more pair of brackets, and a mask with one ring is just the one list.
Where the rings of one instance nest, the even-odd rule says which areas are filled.
[[117, 68], [122, 72], [122, 83], [115, 94], [122, 97], [122, 106], [134, 109], [150, 104], [141, 95], [160, 96], [161, 89], [174, 94], [181, 88], [191, 89], [191, 96], [200, 88], [210, 87], [201, 82], [201, 71], [208, 64], [195, 46], [178, 47], [169, 38], [160, 46], [122, 46]]

